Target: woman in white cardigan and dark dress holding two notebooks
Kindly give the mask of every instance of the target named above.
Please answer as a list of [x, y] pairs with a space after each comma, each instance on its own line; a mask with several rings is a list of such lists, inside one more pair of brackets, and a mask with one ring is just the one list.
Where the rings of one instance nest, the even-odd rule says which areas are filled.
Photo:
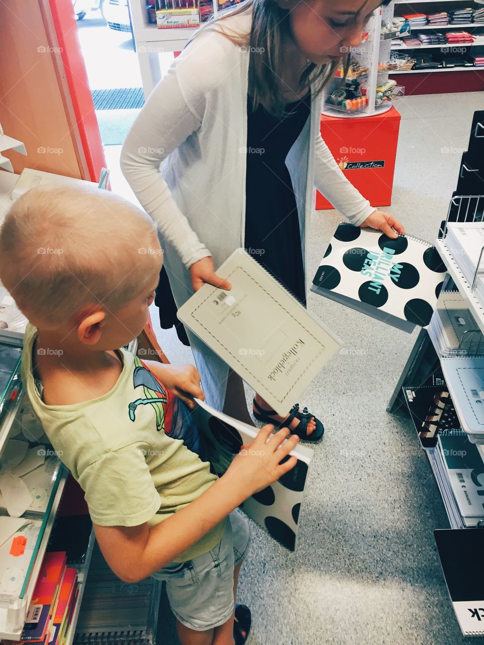
[[[239, 246], [305, 304], [314, 186], [353, 224], [404, 233], [347, 181], [319, 133], [321, 90], [379, 5], [245, 0], [207, 23], [157, 84], [121, 168], [158, 223], [177, 306], [204, 283], [229, 288], [214, 266]], [[250, 422], [240, 377], [189, 336], [207, 402]], [[306, 408], [278, 417], [258, 394], [253, 412], [302, 439], [324, 432]]]

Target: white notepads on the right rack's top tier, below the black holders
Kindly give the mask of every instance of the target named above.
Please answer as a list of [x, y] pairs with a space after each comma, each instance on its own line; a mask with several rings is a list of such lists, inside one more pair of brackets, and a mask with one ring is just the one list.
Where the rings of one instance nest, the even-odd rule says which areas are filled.
[[484, 222], [449, 222], [445, 245], [465, 279], [484, 303]]

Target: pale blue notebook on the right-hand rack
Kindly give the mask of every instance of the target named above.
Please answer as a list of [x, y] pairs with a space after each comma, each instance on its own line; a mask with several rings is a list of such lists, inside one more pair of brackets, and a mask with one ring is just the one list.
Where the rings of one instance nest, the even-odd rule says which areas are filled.
[[442, 357], [445, 382], [469, 441], [484, 442], [484, 357]]

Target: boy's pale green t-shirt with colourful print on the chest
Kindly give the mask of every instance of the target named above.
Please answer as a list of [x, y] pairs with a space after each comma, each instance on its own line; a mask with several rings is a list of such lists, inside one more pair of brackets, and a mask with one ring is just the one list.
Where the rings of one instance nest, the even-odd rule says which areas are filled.
[[[46, 405], [32, 374], [36, 335], [28, 324], [23, 385], [59, 459], [85, 492], [95, 524], [154, 526], [216, 481], [210, 464], [202, 461], [203, 444], [188, 408], [123, 348], [123, 370], [110, 392], [73, 405]], [[224, 528], [225, 520], [175, 562], [210, 551]]]

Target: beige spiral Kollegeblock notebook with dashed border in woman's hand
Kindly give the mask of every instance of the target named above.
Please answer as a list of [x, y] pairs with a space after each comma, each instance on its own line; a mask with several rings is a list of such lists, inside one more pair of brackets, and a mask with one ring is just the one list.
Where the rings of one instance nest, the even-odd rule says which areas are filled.
[[287, 415], [341, 343], [242, 249], [217, 274], [232, 289], [204, 284], [177, 316], [271, 408]]

